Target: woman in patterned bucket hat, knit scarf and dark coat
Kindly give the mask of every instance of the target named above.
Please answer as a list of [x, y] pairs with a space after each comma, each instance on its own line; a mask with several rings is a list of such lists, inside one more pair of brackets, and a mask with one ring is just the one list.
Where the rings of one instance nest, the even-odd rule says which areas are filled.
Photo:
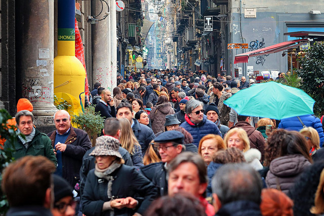
[[118, 148], [117, 139], [102, 136], [89, 154], [96, 157], [96, 168], [89, 172], [81, 198], [88, 216], [143, 214], [156, 196], [149, 180], [123, 164]]

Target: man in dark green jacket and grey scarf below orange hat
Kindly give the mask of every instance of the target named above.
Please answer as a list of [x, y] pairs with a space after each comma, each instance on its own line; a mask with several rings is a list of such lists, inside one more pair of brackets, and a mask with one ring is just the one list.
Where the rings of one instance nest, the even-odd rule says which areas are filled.
[[54, 154], [50, 138], [34, 127], [34, 116], [28, 110], [19, 111], [16, 114], [17, 131], [23, 134], [17, 137], [14, 143], [8, 140], [5, 142], [5, 149], [13, 149], [13, 157], [15, 159], [26, 155], [38, 156], [42, 155], [50, 159], [55, 166], [57, 159]]

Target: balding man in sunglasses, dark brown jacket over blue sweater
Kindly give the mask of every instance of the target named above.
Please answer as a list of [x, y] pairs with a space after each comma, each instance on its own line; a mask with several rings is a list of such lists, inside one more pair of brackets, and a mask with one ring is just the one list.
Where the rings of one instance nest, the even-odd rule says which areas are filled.
[[86, 132], [72, 127], [71, 117], [67, 111], [57, 111], [54, 114], [54, 121], [56, 131], [47, 136], [52, 141], [58, 161], [55, 174], [63, 177], [74, 188], [80, 179], [82, 158], [92, 144]]

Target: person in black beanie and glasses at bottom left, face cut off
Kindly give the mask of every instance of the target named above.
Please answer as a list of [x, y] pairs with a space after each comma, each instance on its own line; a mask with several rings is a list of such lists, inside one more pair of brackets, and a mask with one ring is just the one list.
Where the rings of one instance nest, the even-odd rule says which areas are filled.
[[73, 189], [69, 183], [60, 176], [53, 175], [54, 207], [53, 216], [75, 215], [76, 202], [73, 200]]

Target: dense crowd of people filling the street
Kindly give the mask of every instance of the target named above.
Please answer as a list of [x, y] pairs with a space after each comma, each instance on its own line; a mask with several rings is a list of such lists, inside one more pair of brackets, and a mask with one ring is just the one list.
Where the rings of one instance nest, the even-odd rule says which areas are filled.
[[316, 116], [239, 115], [224, 101], [255, 84], [244, 76], [147, 70], [117, 84], [95, 83], [86, 101], [105, 122], [95, 146], [65, 110], [39, 132], [18, 101], [23, 136], [4, 143], [16, 159], [3, 173], [7, 215], [324, 214]]

